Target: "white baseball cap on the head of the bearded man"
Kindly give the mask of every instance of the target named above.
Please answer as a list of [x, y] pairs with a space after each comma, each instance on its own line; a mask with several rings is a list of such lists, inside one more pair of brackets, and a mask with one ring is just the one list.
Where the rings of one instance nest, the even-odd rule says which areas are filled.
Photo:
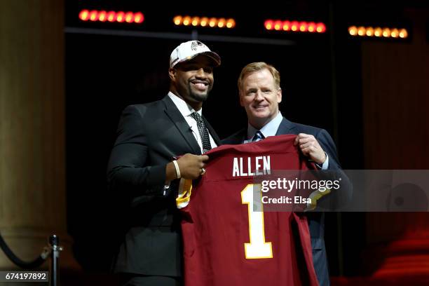
[[175, 48], [170, 55], [170, 67], [174, 67], [179, 62], [186, 62], [186, 60], [191, 60], [193, 57], [197, 55], [207, 55], [210, 57], [215, 66], [220, 65], [220, 57], [217, 53], [214, 53], [205, 46], [205, 44], [200, 41], [187, 41], [185, 43], [181, 43], [177, 48]]

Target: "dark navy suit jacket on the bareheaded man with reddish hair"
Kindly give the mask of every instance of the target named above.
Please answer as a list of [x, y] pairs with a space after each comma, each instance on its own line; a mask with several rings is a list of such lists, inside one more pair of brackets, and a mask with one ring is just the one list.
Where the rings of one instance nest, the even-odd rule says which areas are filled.
[[[324, 129], [293, 123], [288, 121], [286, 118], [283, 118], [275, 135], [298, 135], [299, 133], [313, 135], [315, 139], [318, 140], [322, 149], [329, 156], [329, 170], [338, 172], [339, 176], [342, 178], [343, 184], [341, 185], [344, 187], [341, 187], [338, 191], [332, 192], [328, 196], [322, 198], [318, 201], [318, 205], [322, 204], [324, 207], [334, 208], [335, 206], [345, 205], [348, 203], [351, 199], [352, 189], [347, 176], [341, 171], [341, 166], [339, 165], [338, 156], [336, 154], [336, 147], [332, 137]], [[244, 128], [243, 130], [240, 130], [230, 137], [222, 140], [222, 144], [241, 144], [245, 139], [247, 139], [247, 128]], [[320, 285], [329, 285], [329, 273], [324, 240], [324, 214], [323, 212], [307, 212], [306, 215], [308, 217], [308, 226], [311, 233], [311, 247], [313, 249], [313, 264], [315, 272], [318, 276]]]

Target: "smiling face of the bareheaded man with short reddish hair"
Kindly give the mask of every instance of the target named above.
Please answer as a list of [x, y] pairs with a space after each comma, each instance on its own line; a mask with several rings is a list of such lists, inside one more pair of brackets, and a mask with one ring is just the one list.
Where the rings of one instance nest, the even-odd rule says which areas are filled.
[[247, 74], [240, 89], [240, 104], [246, 109], [249, 123], [261, 129], [278, 114], [282, 90], [268, 69]]

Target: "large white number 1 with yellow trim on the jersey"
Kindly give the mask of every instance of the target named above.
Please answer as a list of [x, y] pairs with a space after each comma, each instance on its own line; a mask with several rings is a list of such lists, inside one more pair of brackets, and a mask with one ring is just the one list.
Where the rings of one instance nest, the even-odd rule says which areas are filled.
[[[254, 189], [257, 188], [257, 189]], [[253, 198], [255, 196], [255, 198]], [[261, 210], [254, 210], [254, 201]], [[248, 184], [241, 191], [241, 203], [247, 204], [249, 214], [249, 236], [250, 243], [245, 243], [246, 259], [273, 258], [273, 247], [271, 243], [265, 242], [264, 212], [261, 203], [261, 185]]]

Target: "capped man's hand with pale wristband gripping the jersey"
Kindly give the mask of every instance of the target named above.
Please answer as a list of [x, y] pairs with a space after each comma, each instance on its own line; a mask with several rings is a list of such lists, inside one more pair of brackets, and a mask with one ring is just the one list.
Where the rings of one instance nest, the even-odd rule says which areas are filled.
[[[208, 160], [207, 155], [184, 154], [177, 160], [179, 165], [180, 177], [184, 179], [197, 179], [201, 175], [202, 169], [205, 167], [205, 161]], [[170, 182], [177, 179], [175, 165], [170, 162], [166, 167], [165, 182]]]

